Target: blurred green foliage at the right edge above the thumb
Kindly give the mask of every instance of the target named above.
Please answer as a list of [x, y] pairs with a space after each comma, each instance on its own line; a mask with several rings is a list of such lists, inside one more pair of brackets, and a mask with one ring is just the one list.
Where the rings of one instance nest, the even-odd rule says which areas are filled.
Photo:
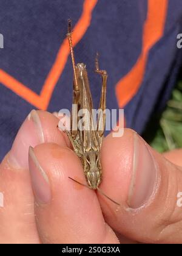
[[158, 152], [182, 148], [182, 79], [178, 80], [164, 112], [152, 117], [143, 137]]

